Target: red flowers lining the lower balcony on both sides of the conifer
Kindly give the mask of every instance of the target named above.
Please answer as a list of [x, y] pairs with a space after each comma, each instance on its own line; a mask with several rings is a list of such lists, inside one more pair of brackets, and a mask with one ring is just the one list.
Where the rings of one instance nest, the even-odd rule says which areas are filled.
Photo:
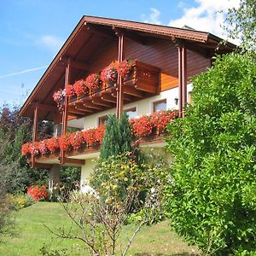
[[[165, 110], [131, 119], [131, 136], [139, 139], [162, 135], [166, 132], [167, 124], [177, 117], [177, 110]], [[67, 135], [61, 137], [44, 139], [40, 142], [25, 143], [21, 148], [21, 152], [26, 157], [57, 155], [60, 150], [72, 155], [73, 150], [98, 147], [102, 143], [104, 132], [105, 126], [101, 125], [85, 131], [67, 133]]]

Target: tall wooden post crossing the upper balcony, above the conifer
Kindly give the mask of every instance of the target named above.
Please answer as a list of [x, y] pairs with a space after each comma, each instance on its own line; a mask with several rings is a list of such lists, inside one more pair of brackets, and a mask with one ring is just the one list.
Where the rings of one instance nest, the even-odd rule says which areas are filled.
[[[119, 34], [119, 62], [124, 61], [124, 34]], [[124, 91], [123, 91], [123, 81], [121, 76], [118, 76], [118, 88], [117, 88], [117, 106], [116, 106], [116, 115], [117, 118], [120, 119], [122, 111], [123, 111], [123, 104], [124, 104]]]

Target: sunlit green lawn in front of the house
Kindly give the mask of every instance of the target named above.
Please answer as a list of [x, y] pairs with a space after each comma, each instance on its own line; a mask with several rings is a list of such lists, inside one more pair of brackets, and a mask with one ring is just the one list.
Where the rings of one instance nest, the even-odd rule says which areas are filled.
[[[12, 236], [4, 236], [0, 243], [0, 255], [40, 255], [40, 249], [66, 252], [65, 255], [88, 255], [80, 241], [56, 238], [44, 226], [51, 228], [68, 226], [67, 213], [57, 203], [38, 202], [16, 213], [16, 228]], [[136, 227], [124, 227], [121, 238], [125, 241]], [[176, 233], [170, 230], [168, 223], [161, 222], [144, 227], [131, 245], [129, 255], [194, 255], [195, 247], [189, 247]], [[47, 254], [48, 255], [48, 254]]]

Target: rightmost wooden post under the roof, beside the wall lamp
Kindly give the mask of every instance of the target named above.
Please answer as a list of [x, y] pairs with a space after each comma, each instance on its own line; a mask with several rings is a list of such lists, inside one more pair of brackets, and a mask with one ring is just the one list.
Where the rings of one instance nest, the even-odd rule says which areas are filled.
[[184, 44], [178, 44], [177, 46], [177, 55], [178, 55], [178, 110], [179, 116], [184, 117], [184, 108], [187, 105], [187, 83], [188, 83], [188, 74], [187, 74], [187, 49]]

